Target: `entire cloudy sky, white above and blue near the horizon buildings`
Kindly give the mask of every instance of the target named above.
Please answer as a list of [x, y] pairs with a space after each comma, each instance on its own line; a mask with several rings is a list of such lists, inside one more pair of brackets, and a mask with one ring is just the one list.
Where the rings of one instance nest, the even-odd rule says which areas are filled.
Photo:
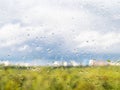
[[0, 60], [119, 59], [120, 0], [0, 0]]

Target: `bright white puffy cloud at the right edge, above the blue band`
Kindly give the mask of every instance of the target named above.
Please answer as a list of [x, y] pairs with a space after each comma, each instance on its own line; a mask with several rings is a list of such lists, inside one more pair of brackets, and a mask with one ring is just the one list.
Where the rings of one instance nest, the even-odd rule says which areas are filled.
[[77, 47], [94, 53], [119, 52], [120, 34], [115, 32], [101, 33], [97, 31], [81, 32], [74, 39]]

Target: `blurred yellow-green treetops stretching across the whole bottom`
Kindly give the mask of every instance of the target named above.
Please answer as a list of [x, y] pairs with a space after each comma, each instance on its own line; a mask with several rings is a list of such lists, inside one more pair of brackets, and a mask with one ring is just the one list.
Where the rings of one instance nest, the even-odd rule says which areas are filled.
[[0, 67], [0, 90], [120, 90], [120, 67]]

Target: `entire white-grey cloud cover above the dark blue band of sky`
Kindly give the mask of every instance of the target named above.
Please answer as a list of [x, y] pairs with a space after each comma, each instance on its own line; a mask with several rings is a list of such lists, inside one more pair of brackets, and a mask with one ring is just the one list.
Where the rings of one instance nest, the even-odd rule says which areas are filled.
[[[63, 44], [59, 47], [63, 52], [78, 48], [94, 53], [119, 53], [120, 34], [109, 30], [114, 24], [119, 25], [112, 21], [119, 19], [115, 12], [119, 0], [7, 1], [0, 1], [0, 49], [18, 47], [18, 51], [26, 51], [31, 48], [27, 42], [38, 39], [38, 44], [46, 46]], [[118, 27], [114, 29], [119, 31]]]

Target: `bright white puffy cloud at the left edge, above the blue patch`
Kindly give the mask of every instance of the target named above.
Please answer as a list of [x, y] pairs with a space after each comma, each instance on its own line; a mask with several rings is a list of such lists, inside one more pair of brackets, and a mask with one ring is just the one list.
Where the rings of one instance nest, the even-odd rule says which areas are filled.
[[26, 41], [44, 36], [41, 27], [21, 27], [20, 24], [7, 24], [0, 28], [0, 48], [20, 45]]

